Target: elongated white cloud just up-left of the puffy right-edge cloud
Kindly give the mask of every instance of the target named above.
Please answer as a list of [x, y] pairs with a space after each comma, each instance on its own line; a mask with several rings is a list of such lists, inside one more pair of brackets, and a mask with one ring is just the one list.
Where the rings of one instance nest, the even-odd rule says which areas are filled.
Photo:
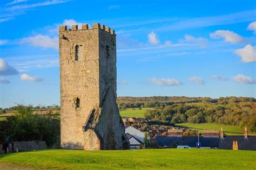
[[242, 44], [244, 43], [244, 38], [239, 36], [230, 30], [217, 30], [210, 33], [211, 38], [224, 38], [226, 42], [231, 42], [232, 44]]

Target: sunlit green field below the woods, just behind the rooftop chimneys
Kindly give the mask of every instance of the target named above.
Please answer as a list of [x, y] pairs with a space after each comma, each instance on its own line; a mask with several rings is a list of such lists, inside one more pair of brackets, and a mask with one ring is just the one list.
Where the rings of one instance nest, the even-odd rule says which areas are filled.
[[199, 129], [199, 132], [203, 132], [204, 129], [211, 129], [211, 130], [219, 130], [222, 127], [224, 133], [227, 135], [241, 135], [243, 132], [239, 129], [239, 126], [233, 125], [222, 125], [222, 124], [214, 124], [214, 123], [200, 123], [200, 124], [193, 124], [193, 123], [179, 123], [176, 126], [182, 128], [189, 128], [189, 129]]

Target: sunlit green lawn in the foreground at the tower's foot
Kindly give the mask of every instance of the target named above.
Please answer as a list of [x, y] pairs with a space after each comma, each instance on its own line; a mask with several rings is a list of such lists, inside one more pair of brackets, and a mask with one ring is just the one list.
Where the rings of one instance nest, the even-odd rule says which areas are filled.
[[0, 155], [0, 164], [39, 169], [256, 169], [255, 151], [44, 150]]

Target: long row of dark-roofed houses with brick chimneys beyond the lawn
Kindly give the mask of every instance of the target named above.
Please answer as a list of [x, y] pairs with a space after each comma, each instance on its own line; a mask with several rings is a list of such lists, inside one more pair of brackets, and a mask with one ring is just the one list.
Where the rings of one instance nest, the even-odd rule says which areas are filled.
[[[173, 147], [177, 145], [196, 147], [196, 143], [198, 142], [197, 136], [178, 136], [175, 130], [170, 132], [173, 135], [157, 136], [154, 138], [154, 142], [157, 143], [158, 147]], [[237, 150], [256, 151], [256, 136], [255, 134], [248, 134], [246, 128], [244, 136], [224, 136], [222, 128], [220, 135], [217, 130], [205, 130], [204, 132], [204, 136], [199, 137], [201, 147], [232, 150], [234, 149], [233, 145], [235, 143]]]

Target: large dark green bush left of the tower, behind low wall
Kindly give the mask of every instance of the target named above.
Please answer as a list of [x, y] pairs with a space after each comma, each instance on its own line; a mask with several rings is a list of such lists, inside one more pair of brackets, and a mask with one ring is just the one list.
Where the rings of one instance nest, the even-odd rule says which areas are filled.
[[32, 105], [18, 105], [17, 114], [5, 122], [10, 141], [44, 140], [50, 147], [60, 136], [59, 118], [33, 115]]

